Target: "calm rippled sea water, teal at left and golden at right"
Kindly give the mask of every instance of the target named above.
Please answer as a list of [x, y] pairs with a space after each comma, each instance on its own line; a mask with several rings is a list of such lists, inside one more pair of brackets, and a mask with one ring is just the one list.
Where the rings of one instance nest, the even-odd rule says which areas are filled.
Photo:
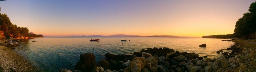
[[[89, 41], [90, 38], [26, 39], [22, 40], [21, 45], [14, 51], [20, 53], [43, 71], [56, 72], [60, 68], [74, 69], [80, 54], [89, 52], [95, 55], [97, 62], [105, 59], [106, 53], [132, 54], [141, 49], [154, 47], [168, 47], [179, 52], [195, 52], [200, 57], [215, 58], [220, 56], [216, 51], [226, 49], [234, 43], [210, 38], [113, 37], [99, 39], [99, 41]], [[121, 42], [121, 39], [127, 39], [127, 42]], [[32, 42], [34, 40], [37, 42]], [[206, 43], [206, 48], [199, 47], [203, 43]]]

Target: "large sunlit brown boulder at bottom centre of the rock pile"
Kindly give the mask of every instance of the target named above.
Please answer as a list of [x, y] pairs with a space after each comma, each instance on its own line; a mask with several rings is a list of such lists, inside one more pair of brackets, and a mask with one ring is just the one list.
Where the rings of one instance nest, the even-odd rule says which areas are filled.
[[145, 58], [143, 57], [135, 57], [131, 62], [131, 71], [132, 72], [140, 72], [146, 65]]

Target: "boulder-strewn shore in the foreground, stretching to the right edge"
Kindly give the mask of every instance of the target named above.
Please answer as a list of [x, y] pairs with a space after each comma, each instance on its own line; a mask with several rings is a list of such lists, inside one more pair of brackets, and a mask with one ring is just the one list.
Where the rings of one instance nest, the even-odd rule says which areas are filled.
[[[178, 52], [170, 48], [148, 48], [132, 55], [106, 53], [106, 60], [95, 62], [94, 54], [80, 55], [73, 72], [256, 72], [256, 44], [234, 40], [218, 58], [203, 58], [196, 53]], [[248, 44], [249, 42], [249, 44]], [[72, 72], [60, 69], [59, 72]]]

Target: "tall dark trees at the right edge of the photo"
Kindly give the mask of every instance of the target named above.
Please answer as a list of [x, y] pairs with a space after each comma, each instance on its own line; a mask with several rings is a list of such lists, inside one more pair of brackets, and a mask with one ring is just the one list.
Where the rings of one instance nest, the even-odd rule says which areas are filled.
[[248, 12], [238, 19], [234, 35], [244, 39], [256, 38], [256, 3], [252, 3]]

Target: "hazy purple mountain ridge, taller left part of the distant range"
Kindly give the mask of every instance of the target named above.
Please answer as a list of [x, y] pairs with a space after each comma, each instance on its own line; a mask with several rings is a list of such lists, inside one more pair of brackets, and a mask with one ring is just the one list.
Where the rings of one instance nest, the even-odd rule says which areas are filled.
[[126, 34], [114, 34], [114, 35], [108, 35], [108, 36], [103, 36], [103, 35], [72, 35], [69, 37], [140, 37], [139, 35], [126, 35]]

